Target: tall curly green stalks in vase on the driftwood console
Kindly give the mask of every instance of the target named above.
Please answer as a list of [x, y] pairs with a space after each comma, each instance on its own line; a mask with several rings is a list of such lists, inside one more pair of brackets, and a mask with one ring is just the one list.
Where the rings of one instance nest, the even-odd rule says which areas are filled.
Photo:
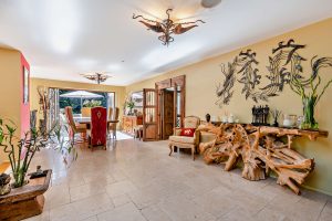
[[320, 88], [322, 83], [321, 76], [319, 76], [319, 70], [321, 67], [332, 67], [332, 60], [322, 57], [317, 60], [312, 64], [313, 75], [309, 80], [309, 84], [303, 84], [300, 78], [293, 77], [291, 82], [291, 88], [298, 95], [301, 96], [303, 104], [303, 120], [300, 125], [301, 129], [318, 129], [319, 124], [314, 119], [315, 106], [321, 99], [322, 95], [325, 93], [326, 88], [332, 83], [332, 80], [326, 82], [326, 84]]

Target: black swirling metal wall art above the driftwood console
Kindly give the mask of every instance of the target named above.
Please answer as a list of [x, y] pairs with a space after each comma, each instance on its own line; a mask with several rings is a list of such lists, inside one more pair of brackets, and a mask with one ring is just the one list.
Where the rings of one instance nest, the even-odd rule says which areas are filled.
[[[297, 44], [294, 40], [288, 42], [279, 42], [276, 49], [272, 49], [272, 55], [269, 56], [269, 65], [267, 66], [268, 74], [259, 74], [256, 52], [247, 50], [240, 52], [232, 62], [229, 62], [227, 67], [221, 64], [221, 73], [225, 78], [217, 86], [216, 94], [218, 99], [216, 105], [222, 107], [228, 105], [234, 95], [234, 85], [236, 82], [242, 84], [241, 93], [246, 99], [250, 98], [258, 103], [259, 101], [268, 102], [270, 97], [279, 96], [286, 85], [295, 91], [298, 84], [308, 86], [318, 76], [319, 70], [324, 66], [330, 66], [331, 57], [311, 60], [311, 75], [305, 78], [303, 74], [302, 62], [307, 61], [298, 51], [304, 49], [305, 45]], [[267, 84], [261, 85], [261, 82]]]

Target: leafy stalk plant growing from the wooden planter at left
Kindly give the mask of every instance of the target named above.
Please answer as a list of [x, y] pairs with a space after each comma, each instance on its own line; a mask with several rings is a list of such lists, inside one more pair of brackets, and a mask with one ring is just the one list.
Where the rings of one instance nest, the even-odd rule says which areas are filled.
[[12, 120], [0, 118], [0, 147], [3, 147], [3, 151], [8, 155], [14, 188], [27, 183], [25, 175], [35, 152], [50, 145], [53, 138], [56, 139], [55, 147], [61, 151], [72, 150], [73, 147], [69, 146], [69, 143], [61, 137], [61, 129], [62, 127], [56, 124], [46, 133], [46, 136], [43, 131], [31, 129], [24, 134], [23, 138], [19, 138], [15, 135], [15, 124]]

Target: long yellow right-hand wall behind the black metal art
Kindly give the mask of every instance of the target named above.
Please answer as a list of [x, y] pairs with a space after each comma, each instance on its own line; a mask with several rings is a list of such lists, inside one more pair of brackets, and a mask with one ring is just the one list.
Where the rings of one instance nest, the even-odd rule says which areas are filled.
[[[220, 64], [231, 62], [241, 51], [252, 49], [257, 52], [257, 60], [260, 62], [258, 69], [262, 77], [268, 74], [268, 56], [271, 50], [280, 41], [294, 39], [297, 43], [307, 44], [304, 50], [299, 51], [303, 57], [310, 59], [314, 55], [332, 56], [332, 19], [272, 38], [270, 40], [256, 43], [253, 45], [232, 51], [189, 66], [185, 66], [172, 72], [165, 73], [154, 78], [149, 78], [126, 87], [126, 92], [135, 92], [142, 88], [153, 88], [154, 83], [177, 75], [186, 75], [186, 115], [197, 115], [201, 118], [207, 113], [221, 116], [225, 112], [235, 114], [240, 122], [251, 122], [251, 107], [255, 104], [246, 101], [241, 94], [241, 85], [236, 84], [235, 95], [229, 106], [221, 109], [215, 105], [216, 85], [224, 80], [220, 72]], [[304, 66], [304, 73], [310, 74], [308, 65]], [[332, 69], [322, 72], [323, 82], [332, 78]], [[263, 85], [263, 84], [262, 84]], [[317, 106], [317, 120], [321, 129], [332, 133], [332, 86], [326, 91], [319, 105]], [[263, 103], [260, 103], [263, 104]], [[302, 115], [301, 98], [294, 94], [288, 86], [281, 96], [271, 98], [269, 102], [271, 108], [281, 109], [287, 114]], [[295, 144], [300, 152], [304, 156], [315, 159], [315, 170], [305, 181], [305, 186], [317, 189], [332, 196], [332, 135], [329, 138], [320, 138], [318, 141], [300, 140]], [[301, 146], [301, 147], [300, 147]]]

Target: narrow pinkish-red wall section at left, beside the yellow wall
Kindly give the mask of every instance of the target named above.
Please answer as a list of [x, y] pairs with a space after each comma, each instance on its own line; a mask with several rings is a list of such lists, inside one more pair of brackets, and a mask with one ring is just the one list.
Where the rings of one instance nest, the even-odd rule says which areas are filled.
[[27, 104], [23, 102], [23, 91], [24, 91], [24, 69], [29, 71], [29, 94], [30, 94], [30, 65], [27, 62], [24, 55], [21, 53], [21, 136], [30, 129], [30, 96]]

